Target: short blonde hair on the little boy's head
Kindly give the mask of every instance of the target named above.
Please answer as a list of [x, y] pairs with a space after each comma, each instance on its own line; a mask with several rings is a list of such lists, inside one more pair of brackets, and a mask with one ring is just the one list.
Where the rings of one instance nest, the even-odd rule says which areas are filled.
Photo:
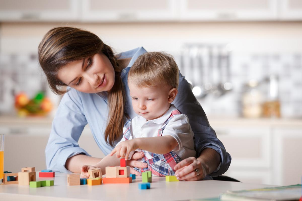
[[139, 87], [165, 84], [178, 87], [178, 67], [172, 55], [165, 52], [146, 52], [133, 63], [128, 82]]

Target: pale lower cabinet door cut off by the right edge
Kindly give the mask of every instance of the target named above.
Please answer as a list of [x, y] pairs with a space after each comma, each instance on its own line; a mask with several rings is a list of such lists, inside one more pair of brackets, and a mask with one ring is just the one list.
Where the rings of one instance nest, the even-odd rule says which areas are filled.
[[274, 184], [300, 184], [302, 175], [302, 127], [273, 130]]

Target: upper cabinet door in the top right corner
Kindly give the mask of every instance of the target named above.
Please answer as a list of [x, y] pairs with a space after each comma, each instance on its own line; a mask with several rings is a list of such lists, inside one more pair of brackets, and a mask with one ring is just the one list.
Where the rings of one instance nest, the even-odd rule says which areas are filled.
[[280, 20], [302, 20], [302, 1], [280, 1]]

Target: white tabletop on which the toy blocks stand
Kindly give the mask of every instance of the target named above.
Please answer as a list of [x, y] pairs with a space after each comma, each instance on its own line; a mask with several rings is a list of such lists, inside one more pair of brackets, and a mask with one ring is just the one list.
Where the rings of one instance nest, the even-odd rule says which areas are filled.
[[55, 178], [40, 179], [37, 172], [37, 181], [43, 180], [54, 180], [54, 186], [30, 188], [18, 184], [0, 185], [0, 200], [189, 200], [218, 197], [227, 190], [271, 187], [229, 181], [165, 182], [165, 177], [152, 177], [151, 189], [147, 190], [138, 189], [141, 177], [131, 184], [67, 186], [67, 174], [56, 173]]

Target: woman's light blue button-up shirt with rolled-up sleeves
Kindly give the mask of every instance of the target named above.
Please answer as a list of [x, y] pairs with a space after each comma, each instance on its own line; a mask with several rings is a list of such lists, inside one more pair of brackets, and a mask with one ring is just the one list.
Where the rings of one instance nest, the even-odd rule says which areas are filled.
[[[127, 76], [134, 61], [145, 52], [146, 50], [143, 47], [139, 47], [122, 52], [119, 55], [120, 58], [132, 58], [128, 67], [121, 72], [127, 97], [127, 114], [130, 118], [137, 114], [132, 109]], [[71, 173], [65, 168], [66, 160], [79, 153], [89, 155], [78, 144], [86, 124], [89, 124], [95, 142], [101, 151], [105, 155], [111, 152], [113, 147], [108, 145], [104, 139], [104, 131], [108, 120], [107, 95], [107, 92], [82, 93], [73, 88], [64, 94], [53, 119], [50, 137], [45, 149], [47, 169]], [[189, 118], [194, 132], [197, 156], [205, 148], [212, 148], [220, 154], [221, 163], [210, 176], [219, 176], [226, 172], [231, 163], [231, 156], [226, 152], [221, 141], [217, 139], [204, 110], [193, 95], [189, 83], [181, 74], [179, 74], [178, 94], [172, 104]], [[122, 136], [123, 133], [120, 133], [120, 138], [114, 144], [117, 144]]]

